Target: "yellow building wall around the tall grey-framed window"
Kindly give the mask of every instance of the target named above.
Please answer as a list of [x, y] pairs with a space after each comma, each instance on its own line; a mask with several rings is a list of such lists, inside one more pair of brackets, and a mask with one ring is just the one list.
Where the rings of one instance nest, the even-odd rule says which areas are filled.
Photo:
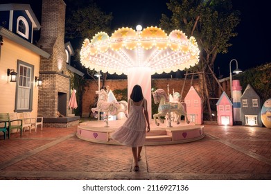
[[10, 82], [7, 69], [15, 69], [17, 72], [17, 60], [21, 60], [34, 66], [33, 84], [33, 111], [32, 116], [37, 116], [38, 87], [35, 84], [35, 76], [39, 76], [40, 55], [24, 48], [3, 37], [3, 45], [0, 49], [0, 112], [14, 112], [16, 82]]

